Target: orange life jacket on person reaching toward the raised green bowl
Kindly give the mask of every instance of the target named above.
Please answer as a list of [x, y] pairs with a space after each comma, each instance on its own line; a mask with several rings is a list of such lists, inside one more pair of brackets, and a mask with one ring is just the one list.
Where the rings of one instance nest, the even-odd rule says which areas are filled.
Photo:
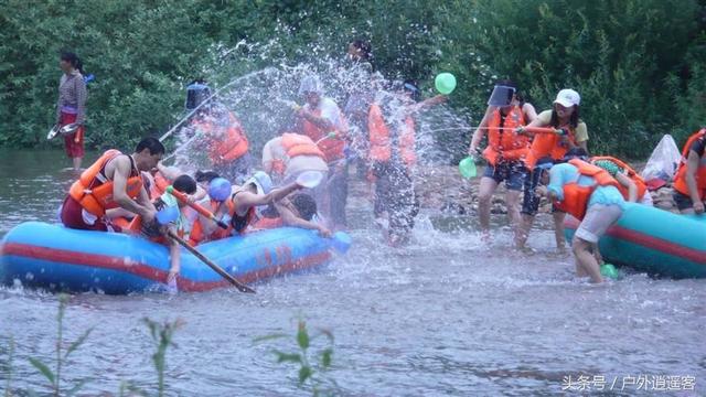
[[399, 129], [400, 131], [395, 131], [398, 136], [397, 142], [394, 142], [395, 139], [391, 133], [391, 127], [385, 122], [379, 105], [371, 105], [367, 112], [367, 130], [371, 141], [370, 159], [372, 161], [391, 161], [393, 152], [395, 152], [407, 167], [413, 167], [417, 162], [414, 118], [407, 116]]

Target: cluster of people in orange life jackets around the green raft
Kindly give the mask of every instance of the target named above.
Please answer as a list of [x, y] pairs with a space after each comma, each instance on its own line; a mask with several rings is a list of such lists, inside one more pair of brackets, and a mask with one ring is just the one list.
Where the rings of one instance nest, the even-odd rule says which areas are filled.
[[[588, 132], [580, 119], [580, 95], [561, 89], [553, 107], [537, 114], [523, 100], [510, 81], [499, 82], [488, 109], [473, 133], [470, 155], [488, 161], [480, 180], [479, 217], [482, 238], [490, 239], [492, 195], [505, 183], [507, 215], [515, 230], [515, 245], [525, 248], [541, 197], [553, 203], [557, 248], [565, 249], [564, 218], [580, 221], [571, 248], [579, 277], [601, 282], [602, 262], [598, 240], [622, 215], [627, 203], [652, 205], [645, 181], [627, 162], [610, 155], [588, 154]], [[674, 178], [674, 200], [684, 213], [704, 212], [706, 200], [706, 129], [684, 146], [683, 161]], [[521, 201], [521, 193], [522, 203]]]

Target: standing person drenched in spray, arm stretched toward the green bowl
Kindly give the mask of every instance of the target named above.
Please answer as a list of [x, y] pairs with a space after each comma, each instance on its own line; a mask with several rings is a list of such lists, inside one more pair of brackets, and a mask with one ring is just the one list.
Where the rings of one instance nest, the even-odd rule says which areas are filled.
[[393, 87], [393, 93], [381, 93], [368, 112], [374, 213], [378, 224], [384, 224], [387, 217], [387, 243], [392, 246], [409, 240], [419, 212], [413, 182], [417, 162], [414, 115], [446, 100], [438, 95], [416, 103], [418, 97], [419, 89], [413, 82], [400, 83]]

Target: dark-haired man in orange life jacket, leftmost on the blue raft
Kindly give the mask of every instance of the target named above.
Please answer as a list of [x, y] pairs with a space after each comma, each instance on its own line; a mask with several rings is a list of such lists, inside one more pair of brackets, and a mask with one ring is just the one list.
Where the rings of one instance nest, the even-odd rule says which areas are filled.
[[106, 211], [121, 207], [142, 217], [147, 225], [157, 214], [143, 181], [142, 171], [153, 169], [164, 154], [156, 138], [142, 139], [132, 154], [106, 151], [74, 182], [64, 200], [61, 219], [75, 229], [107, 232], [113, 228]]

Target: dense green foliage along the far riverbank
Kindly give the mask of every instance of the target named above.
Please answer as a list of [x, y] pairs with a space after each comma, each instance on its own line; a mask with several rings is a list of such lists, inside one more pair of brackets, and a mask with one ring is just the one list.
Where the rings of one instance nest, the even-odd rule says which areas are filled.
[[[430, 89], [435, 73], [454, 73], [451, 106], [470, 122], [493, 79], [510, 77], [538, 109], [559, 88], [577, 89], [593, 151], [642, 157], [662, 133], [683, 141], [706, 124], [704, 0], [0, 0], [0, 9], [3, 146], [46, 144], [60, 49], [96, 75], [88, 142], [106, 147], [164, 131], [194, 77], [223, 84], [340, 57], [353, 37], [372, 42], [386, 76]], [[468, 131], [443, 133], [440, 144], [463, 152]]]

